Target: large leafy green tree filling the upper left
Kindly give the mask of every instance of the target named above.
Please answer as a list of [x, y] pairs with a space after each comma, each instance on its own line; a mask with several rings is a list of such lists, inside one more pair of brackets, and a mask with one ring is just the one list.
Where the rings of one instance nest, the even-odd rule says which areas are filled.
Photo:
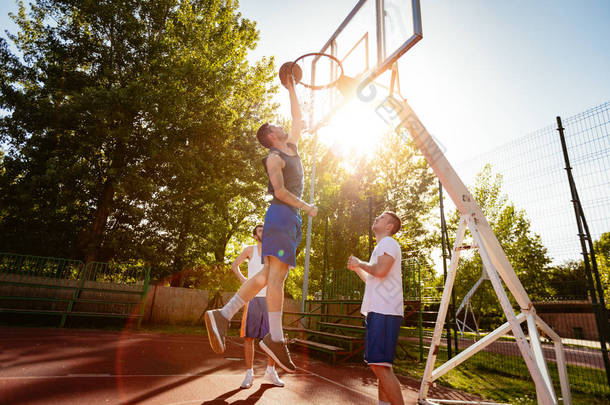
[[255, 23], [225, 0], [36, 0], [13, 19], [3, 246], [159, 276], [222, 262], [262, 212], [254, 131], [275, 89], [273, 60], [247, 60]]

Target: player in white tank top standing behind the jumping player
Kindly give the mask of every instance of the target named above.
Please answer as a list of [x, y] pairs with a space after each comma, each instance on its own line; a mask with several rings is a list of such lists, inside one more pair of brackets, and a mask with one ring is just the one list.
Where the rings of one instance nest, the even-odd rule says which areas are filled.
[[[252, 230], [252, 236], [256, 240], [256, 245], [251, 245], [241, 252], [231, 265], [231, 269], [237, 278], [243, 283], [248, 281], [261, 271], [263, 264], [261, 262], [261, 241], [263, 240], [263, 225], [258, 224]], [[248, 259], [248, 278], [244, 277], [239, 270], [239, 265]], [[244, 316], [241, 320], [240, 335], [244, 338], [244, 360], [246, 362], [246, 376], [241, 383], [241, 388], [250, 388], [254, 379], [254, 339], [262, 339], [269, 333], [269, 317], [267, 314], [267, 302], [265, 301], [265, 293], [267, 287], [263, 288], [244, 306]], [[283, 387], [284, 382], [275, 371], [275, 362], [267, 356], [267, 370], [265, 371], [264, 379], [273, 385]]]

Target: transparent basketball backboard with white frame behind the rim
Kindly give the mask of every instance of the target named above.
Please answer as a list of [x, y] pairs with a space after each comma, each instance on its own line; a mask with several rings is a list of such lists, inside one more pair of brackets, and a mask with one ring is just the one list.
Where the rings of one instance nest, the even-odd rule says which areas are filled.
[[[360, 0], [319, 52], [339, 59], [344, 74], [357, 78], [362, 89], [374, 83], [388, 94], [395, 62], [422, 38], [419, 6], [419, 0]], [[311, 68], [314, 83], [338, 75], [324, 59]], [[311, 92], [310, 127], [327, 121], [342, 102], [337, 89]]]

